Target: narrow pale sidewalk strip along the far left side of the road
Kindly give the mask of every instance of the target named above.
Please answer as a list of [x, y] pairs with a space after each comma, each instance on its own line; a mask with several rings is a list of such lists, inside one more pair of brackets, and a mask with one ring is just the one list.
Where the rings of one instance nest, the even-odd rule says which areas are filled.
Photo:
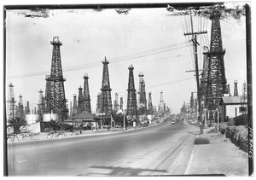
[[[160, 123], [162, 123], [163, 120], [160, 120]], [[150, 124], [149, 126], [154, 126], [154, 125], [160, 125], [156, 124], [155, 121]], [[100, 135], [108, 135], [108, 134], [117, 134], [117, 133], [121, 133], [121, 132], [125, 132], [125, 131], [135, 131], [138, 129], [143, 129], [143, 128], [147, 128], [147, 127], [143, 127], [143, 126], [135, 126], [135, 127], [128, 127], [126, 130], [123, 130], [122, 128], [112, 128], [110, 130], [97, 130], [97, 131], [82, 131], [82, 134], [75, 134], [72, 132], [66, 132], [64, 135], [59, 135], [58, 133], [54, 133], [52, 136], [48, 136], [48, 132], [40, 132], [38, 134], [35, 134], [34, 136], [27, 136], [25, 138], [22, 138], [21, 134], [17, 135], [17, 137], [15, 137], [14, 141], [12, 142], [10, 139], [8, 139], [8, 143], [15, 143], [15, 142], [30, 142], [30, 141], [44, 141], [44, 140], [50, 140], [50, 139], [60, 139], [60, 138], [68, 138], [68, 137], [76, 137], [76, 136], [100, 136]]]

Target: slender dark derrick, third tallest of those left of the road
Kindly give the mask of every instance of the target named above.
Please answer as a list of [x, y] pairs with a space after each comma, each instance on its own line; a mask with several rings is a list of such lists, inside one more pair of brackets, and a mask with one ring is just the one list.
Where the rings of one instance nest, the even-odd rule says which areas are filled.
[[134, 85], [133, 69], [131, 65], [129, 69], [129, 79], [128, 79], [128, 96], [127, 96], [127, 115], [137, 116], [137, 98], [136, 90]]

